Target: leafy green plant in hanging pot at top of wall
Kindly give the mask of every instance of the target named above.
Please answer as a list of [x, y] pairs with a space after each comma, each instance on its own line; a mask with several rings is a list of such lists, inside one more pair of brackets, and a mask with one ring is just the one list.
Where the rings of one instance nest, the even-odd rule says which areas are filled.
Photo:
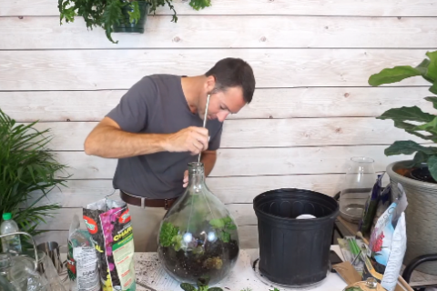
[[[73, 22], [75, 16], [82, 16], [88, 29], [93, 26], [102, 27], [107, 39], [112, 39], [113, 32], [144, 33], [144, 25], [149, 13], [155, 14], [159, 6], [168, 5], [173, 12], [171, 21], [178, 22], [173, 0], [58, 0], [60, 24]], [[189, 0], [189, 5], [195, 9], [203, 9], [211, 5], [210, 0]]]

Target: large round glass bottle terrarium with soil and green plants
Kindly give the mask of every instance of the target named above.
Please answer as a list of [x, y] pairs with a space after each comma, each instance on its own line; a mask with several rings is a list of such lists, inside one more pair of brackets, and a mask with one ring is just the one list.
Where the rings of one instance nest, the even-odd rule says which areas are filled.
[[186, 192], [159, 227], [159, 261], [179, 282], [213, 285], [228, 276], [237, 261], [238, 227], [205, 184], [203, 164], [189, 163], [188, 175]]

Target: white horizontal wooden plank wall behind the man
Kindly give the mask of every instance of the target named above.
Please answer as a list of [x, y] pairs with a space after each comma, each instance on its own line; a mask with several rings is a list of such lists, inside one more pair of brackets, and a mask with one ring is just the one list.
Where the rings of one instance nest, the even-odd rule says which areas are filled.
[[59, 25], [56, 0], [0, 0], [0, 107], [19, 122], [51, 128], [51, 148], [70, 166], [68, 188], [51, 202], [65, 208], [42, 229], [66, 240], [80, 207], [112, 192], [116, 160], [86, 156], [89, 131], [143, 75], [198, 75], [219, 59], [253, 66], [253, 102], [225, 122], [208, 186], [229, 206], [243, 246], [255, 246], [251, 201], [279, 187], [334, 195], [351, 156], [371, 156], [383, 171], [383, 149], [417, 138], [376, 120], [401, 105], [432, 107], [421, 78], [373, 88], [369, 76], [416, 65], [437, 48], [434, 0], [212, 0], [195, 12], [175, 0], [147, 19], [144, 35], [115, 34], [109, 43], [84, 22]]

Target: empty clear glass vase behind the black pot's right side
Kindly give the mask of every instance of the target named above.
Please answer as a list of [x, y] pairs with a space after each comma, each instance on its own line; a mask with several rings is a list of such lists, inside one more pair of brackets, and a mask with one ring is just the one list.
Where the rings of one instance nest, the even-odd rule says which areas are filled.
[[340, 191], [340, 216], [358, 223], [371, 189], [376, 181], [373, 159], [351, 157], [351, 162]]

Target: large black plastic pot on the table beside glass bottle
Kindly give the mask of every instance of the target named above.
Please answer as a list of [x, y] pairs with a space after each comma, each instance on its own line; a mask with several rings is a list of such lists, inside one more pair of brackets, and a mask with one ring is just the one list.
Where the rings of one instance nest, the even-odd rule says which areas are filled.
[[[339, 205], [334, 198], [300, 189], [277, 189], [256, 196], [259, 272], [288, 286], [320, 282], [328, 272], [330, 241]], [[300, 215], [316, 216], [296, 219]]]

